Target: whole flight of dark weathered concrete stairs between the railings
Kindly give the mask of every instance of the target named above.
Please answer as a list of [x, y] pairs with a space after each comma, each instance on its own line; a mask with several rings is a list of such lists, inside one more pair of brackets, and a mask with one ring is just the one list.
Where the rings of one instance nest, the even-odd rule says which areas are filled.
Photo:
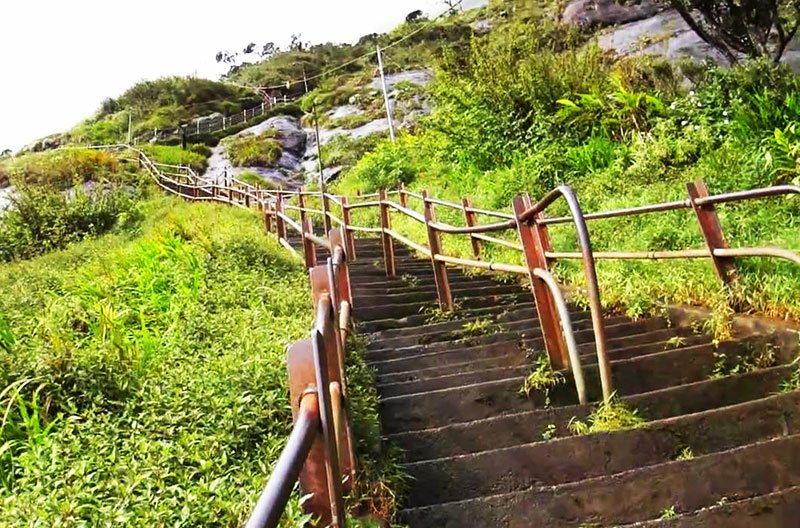
[[[437, 317], [430, 262], [397, 248], [388, 279], [380, 241], [356, 247], [355, 317], [414, 479], [412, 528], [800, 526], [800, 392], [781, 390], [795, 367], [766, 338], [716, 346], [666, 319], [607, 317], [617, 394], [646, 423], [575, 436], [593, 405], [569, 373], [549, 405], [519, 392], [544, 350], [529, 290], [451, 270], [459, 309]], [[572, 317], [598, 402], [589, 314]]]

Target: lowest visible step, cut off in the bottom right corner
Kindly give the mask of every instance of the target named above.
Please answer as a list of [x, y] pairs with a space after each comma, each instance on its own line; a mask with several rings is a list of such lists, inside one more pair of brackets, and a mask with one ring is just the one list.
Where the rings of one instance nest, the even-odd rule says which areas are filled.
[[800, 519], [800, 486], [719, 504], [683, 515], [626, 525], [628, 528], [789, 528]]

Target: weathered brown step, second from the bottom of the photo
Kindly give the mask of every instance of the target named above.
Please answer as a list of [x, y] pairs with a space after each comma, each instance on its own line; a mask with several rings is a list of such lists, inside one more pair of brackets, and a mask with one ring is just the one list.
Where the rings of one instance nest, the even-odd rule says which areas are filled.
[[800, 485], [800, 435], [613, 476], [406, 510], [415, 528], [566, 527], [658, 518]]

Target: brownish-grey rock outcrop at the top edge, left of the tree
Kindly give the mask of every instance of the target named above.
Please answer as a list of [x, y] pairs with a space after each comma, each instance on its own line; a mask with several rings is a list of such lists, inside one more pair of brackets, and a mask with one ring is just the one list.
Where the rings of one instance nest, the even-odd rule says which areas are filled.
[[573, 0], [561, 17], [565, 24], [581, 28], [614, 26], [652, 17], [664, 9], [656, 0], [622, 5], [615, 0]]

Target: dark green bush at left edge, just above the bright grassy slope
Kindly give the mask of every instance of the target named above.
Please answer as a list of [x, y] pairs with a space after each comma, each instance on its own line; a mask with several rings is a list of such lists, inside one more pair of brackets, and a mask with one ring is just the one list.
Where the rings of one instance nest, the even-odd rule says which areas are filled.
[[105, 233], [130, 229], [140, 219], [136, 198], [119, 187], [83, 184], [70, 193], [43, 186], [18, 187], [0, 216], [0, 262], [26, 259]]

